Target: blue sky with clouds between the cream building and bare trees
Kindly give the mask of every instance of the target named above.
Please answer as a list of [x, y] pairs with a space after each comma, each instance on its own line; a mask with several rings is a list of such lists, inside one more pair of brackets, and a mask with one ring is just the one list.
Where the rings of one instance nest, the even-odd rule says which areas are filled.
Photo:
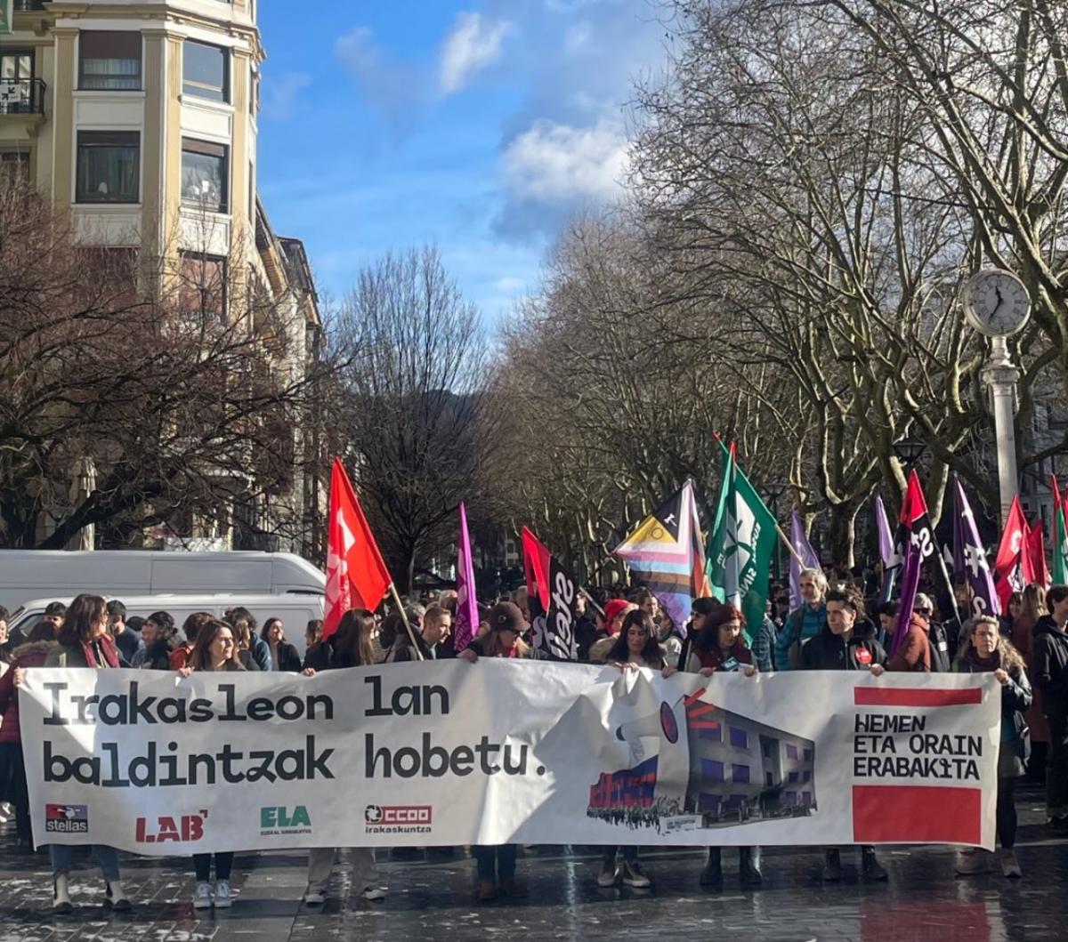
[[611, 201], [635, 78], [663, 61], [650, 0], [260, 4], [260, 191], [334, 297], [435, 242], [490, 321], [536, 285], [567, 217]]

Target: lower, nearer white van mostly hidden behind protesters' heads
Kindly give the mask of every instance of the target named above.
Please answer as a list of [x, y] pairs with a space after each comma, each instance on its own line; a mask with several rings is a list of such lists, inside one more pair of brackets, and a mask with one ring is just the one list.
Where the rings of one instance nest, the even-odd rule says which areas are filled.
[[[104, 593], [101, 593], [104, 594]], [[260, 628], [268, 618], [281, 618], [285, 626], [285, 640], [304, 656], [304, 628], [308, 623], [323, 617], [323, 596], [315, 595], [132, 595], [105, 594], [108, 599], [117, 599], [126, 606], [126, 617], [140, 615], [147, 617], [153, 612], [168, 612], [179, 628], [193, 612], [210, 612], [222, 617], [227, 609], [242, 606], [255, 616]], [[10, 630], [21, 629], [30, 633], [45, 613], [49, 602], [61, 601], [68, 606], [73, 595], [46, 596], [29, 599], [11, 616]], [[258, 631], [258, 628], [256, 629]]]

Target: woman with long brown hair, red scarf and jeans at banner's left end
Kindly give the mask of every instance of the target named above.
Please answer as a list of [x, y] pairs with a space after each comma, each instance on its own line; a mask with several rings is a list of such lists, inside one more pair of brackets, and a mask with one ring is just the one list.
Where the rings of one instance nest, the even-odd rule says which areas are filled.
[[[107, 671], [119, 666], [119, 650], [108, 632], [107, 602], [98, 595], [79, 595], [66, 611], [56, 647], [45, 658], [46, 668], [93, 668]], [[103, 844], [94, 845], [96, 859], [104, 873], [104, 905], [109, 909], [127, 910], [130, 901], [119, 882], [119, 851]], [[50, 844], [52, 858], [52, 909], [70, 912], [67, 875], [74, 863], [69, 844]]]

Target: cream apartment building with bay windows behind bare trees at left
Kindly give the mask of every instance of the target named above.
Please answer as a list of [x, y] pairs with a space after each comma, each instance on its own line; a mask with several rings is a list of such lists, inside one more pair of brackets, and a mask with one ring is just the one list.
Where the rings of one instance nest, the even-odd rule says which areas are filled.
[[[267, 292], [270, 324], [249, 329], [285, 335], [278, 365], [287, 375], [307, 368], [319, 333], [308, 258], [298, 239], [271, 230], [256, 197], [256, 0], [14, 0], [10, 26], [0, 33], [0, 170], [69, 207], [87, 247], [136, 252], [161, 296], [207, 297], [226, 318], [250, 308], [235, 295]], [[273, 507], [292, 515], [307, 504], [300, 475], [286, 487], [250, 506], [235, 482], [232, 513], [221, 515], [230, 522], [177, 536], [279, 545]]]

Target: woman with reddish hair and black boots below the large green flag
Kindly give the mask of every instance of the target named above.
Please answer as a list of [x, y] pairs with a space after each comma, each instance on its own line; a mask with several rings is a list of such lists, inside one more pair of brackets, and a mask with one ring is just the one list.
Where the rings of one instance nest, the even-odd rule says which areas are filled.
[[[714, 599], [708, 605], [705, 599], [696, 599], [694, 611], [707, 614], [702, 618], [702, 626], [691, 639], [688, 650], [684, 650], [684, 670], [711, 677], [721, 672], [741, 671], [747, 677], [756, 676], [753, 665], [753, 653], [745, 646], [742, 634], [742, 614], [734, 606], [723, 605]], [[701, 603], [698, 607], [698, 602]], [[663, 669], [663, 676], [671, 677], [677, 673], [671, 665]], [[764, 882], [760, 874], [760, 848], [738, 848], [738, 878], [743, 888], [759, 886]], [[723, 884], [723, 848], [708, 848], [708, 863], [701, 872], [702, 886], [722, 886]]]

